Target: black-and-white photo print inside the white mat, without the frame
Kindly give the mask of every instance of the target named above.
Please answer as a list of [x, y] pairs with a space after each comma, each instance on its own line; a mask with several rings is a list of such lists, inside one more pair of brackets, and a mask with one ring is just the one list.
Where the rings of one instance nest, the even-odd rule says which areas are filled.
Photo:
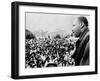
[[89, 15], [25, 13], [25, 68], [89, 65]]

